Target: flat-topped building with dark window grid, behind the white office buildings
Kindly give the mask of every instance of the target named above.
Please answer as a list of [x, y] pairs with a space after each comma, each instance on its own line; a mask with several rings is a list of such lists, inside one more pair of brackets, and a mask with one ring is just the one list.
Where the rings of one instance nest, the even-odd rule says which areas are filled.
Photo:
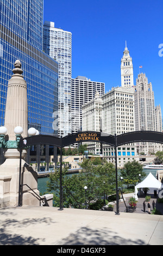
[[72, 132], [82, 131], [82, 107], [85, 103], [105, 93], [105, 83], [91, 81], [85, 76], [77, 76], [71, 83]]

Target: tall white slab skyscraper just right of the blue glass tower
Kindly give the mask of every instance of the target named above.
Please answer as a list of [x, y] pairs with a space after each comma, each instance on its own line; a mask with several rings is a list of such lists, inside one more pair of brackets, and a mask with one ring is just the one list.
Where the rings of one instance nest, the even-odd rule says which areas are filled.
[[72, 33], [54, 27], [54, 22], [43, 25], [43, 51], [58, 62], [58, 136], [71, 133], [71, 68]]

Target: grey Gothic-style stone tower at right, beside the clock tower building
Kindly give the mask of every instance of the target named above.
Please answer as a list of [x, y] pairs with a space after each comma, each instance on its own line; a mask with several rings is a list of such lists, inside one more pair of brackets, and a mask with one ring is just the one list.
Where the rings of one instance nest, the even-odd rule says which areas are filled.
[[[136, 78], [135, 88], [135, 130], [162, 132], [162, 115], [160, 106], [155, 107], [152, 83], [141, 73]], [[162, 150], [161, 144], [152, 142], [137, 143], [139, 153], [152, 154]]]

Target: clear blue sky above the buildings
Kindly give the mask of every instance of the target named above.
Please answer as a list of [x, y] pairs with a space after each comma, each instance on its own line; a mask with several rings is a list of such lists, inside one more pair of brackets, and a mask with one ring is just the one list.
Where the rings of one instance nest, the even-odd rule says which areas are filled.
[[[44, 0], [43, 20], [72, 33], [72, 78], [121, 86], [121, 58], [127, 41], [134, 84], [141, 72], [152, 83], [163, 115], [162, 0]], [[161, 48], [159, 45], [162, 44]]]

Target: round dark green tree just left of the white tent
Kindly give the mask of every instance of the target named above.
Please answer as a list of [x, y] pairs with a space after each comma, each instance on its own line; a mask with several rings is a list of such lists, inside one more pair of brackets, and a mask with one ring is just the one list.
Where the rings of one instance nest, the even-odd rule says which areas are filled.
[[139, 174], [141, 174], [141, 178], [146, 176], [143, 172], [142, 164], [135, 160], [125, 163], [121, 169], [121, 176], [127, 185], [136, 184], [139, 181]]

